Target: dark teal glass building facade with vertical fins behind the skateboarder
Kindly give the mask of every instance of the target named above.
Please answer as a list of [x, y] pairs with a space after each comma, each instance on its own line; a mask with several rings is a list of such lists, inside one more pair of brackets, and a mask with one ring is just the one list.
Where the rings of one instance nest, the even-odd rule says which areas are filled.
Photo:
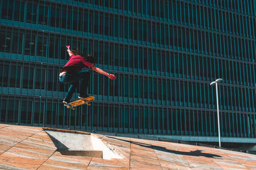
[[[253, 0], [1, 0], [0, 122], [166, 136], [256, 137]], [[62, 104], [66, 45], [97, 59], [92, 106]], [[73, 100], [77, 99], [77, 94]]]

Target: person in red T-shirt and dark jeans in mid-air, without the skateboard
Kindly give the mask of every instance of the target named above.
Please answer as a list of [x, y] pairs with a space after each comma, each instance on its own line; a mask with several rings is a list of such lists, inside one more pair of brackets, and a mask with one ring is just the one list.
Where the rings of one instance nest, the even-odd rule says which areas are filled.
[[67, 46], [68, 55], [70, 55], [70, 59], [67, 64], [61, 68], [59, 80], [61, 83], [70, 83], [70, 87], [68, 92], [63, 100], [63, 104], [70, 103], [70, 99], [72, 98], [73, 93], [76, 90], [76, 87], [79, 85], [79, 80], [81, 79], [81, 85], [79, 90], [79, 99], [84, 99], [88, 97], [87, 95], [87, 87], [90, 80], [90, 72], [82, 71], [83, 67], [88, 67], [89, 69], [93, 69], [97, 73], [108, 76], [111, 80], [116, 79], [114, 74], [109, 74], [103, 71], [102, 69], [95, 67], [95, 60], [92, 55], [83, 55], [81, 52], [77, 52], [75, 50], [70, 50], [70, 46]]

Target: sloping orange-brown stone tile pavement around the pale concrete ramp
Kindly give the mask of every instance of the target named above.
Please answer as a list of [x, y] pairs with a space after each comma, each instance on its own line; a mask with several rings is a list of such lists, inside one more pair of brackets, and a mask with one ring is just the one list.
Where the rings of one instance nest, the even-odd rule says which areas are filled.
[[0, 124], [0, 169], [256, 169], [256, 155], [101, 136], [124, 159], [61, 155], [41, 127]]

